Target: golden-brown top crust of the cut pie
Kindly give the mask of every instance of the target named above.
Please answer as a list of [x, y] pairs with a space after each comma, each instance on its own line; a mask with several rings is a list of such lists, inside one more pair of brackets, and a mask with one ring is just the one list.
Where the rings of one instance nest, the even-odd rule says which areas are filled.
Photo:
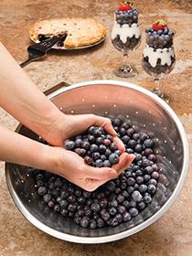
[[35, 23], [29, 29], [29, 36], [39, 42], [38, 35], [53, 37], [66, 32], [64, 48], [79, 48], [100, 41], [105, 37], [106, 29], [94, 18], [59, 18]]

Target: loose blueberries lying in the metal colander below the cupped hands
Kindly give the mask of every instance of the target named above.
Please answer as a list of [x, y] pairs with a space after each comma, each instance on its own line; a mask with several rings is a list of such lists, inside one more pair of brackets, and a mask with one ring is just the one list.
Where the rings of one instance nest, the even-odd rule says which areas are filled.
[[88, 192], [60, 176], [41, 170], [35, 173], [37, 194], [48, 208], [73, 219], [82, 228], [114, 227], [127, 222], [151, 204], [156, 192], [159, 173], [153, 139], [136, 131], [129, 121], [111, 118], [126, 152], [135, 155], [123, 174]]

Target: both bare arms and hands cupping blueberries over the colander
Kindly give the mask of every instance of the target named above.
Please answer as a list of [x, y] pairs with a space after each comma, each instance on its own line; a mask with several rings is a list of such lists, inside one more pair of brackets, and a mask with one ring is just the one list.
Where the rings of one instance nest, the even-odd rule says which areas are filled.
[[[0, 126], [0, 160], [51, 171], [90, 191], [119, 176], [132, 163], [134, 155], [123, 153], [123, 143], [117, 138], [109, 119], [60, 112], [1, 43], [0, 56], [0, 107], [51, 144], [39, 144]], [[86, 165], [79, 155], [63, 148], [66, 139], [84, 132], [91, 125], [102, 126], [123, 153], [120, 162], [112, 168]]]

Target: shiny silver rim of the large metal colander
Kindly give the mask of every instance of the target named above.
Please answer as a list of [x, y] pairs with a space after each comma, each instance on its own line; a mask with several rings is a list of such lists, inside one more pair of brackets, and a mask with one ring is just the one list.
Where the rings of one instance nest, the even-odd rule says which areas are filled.
[[[184, 186], [184, 183], [187, 178], [187, 170], [189, 167], [189, 145], [187, 142], [187, 134], [185, 132], [185, 129], [180, 122], [179, 118], [177, 117], [176, 113], [169, 107], [169, 105], [160, 99], [158, 96], [156, 96], [153, 92], [148, 91], [144, 89], [141, 86], [134, 85], [129, 82], [123, 82], [119, 80], [91, 80], [91, 81], [84, 81], [80, 82], [74, 85], [70, 85], [69, 87], [66, 88], [61, 88], [57, 91], [54, 91], [48, 95], [48, 99], [52, 99], [55, 96], [58, 96], [60, 93], [64, 91], [70, 91], [76, 88], [80, 87], [85, 87], [89, 85], [116, 85], [116, 86], [121, 86], [121, 87], [126, 87], [126, 88], [131, 88], [136, 91], [141, 91], [147, 96], [151, 97], [155, 101], [159, 103], [159, 105], [163, 106], [166, 110], [166, 112], [169, 113], [171, 118], [174, 120], [176, 123], [176, 127], [178, 129], [178, 132], [180, 133], [181, 140], [183, 143], [183, 152], [184, 152], [184, 158], [183, 158], [183, 166], [181, 170], [181, 175], [179, 177], [179, 180], [177, 182], [176, 188], [173, 191], [173, 194], [168, 198], [168, 200], [165, 202], [165, 205], [160, 208], [152, 217], [149, 219], [146, 219], [143, 223], [139, 224], [138, 226], [132, 228], [132, 229], [127, 229], [121, 233], [117, 233], [114, 235], [110, 236], [102, 236], [102, 237], [78, 237], [74, 235], [69, 235], [65, 234], [63, 232], [57, 231], [55, 229], [51, 229], [39, 220], [37, 220], [32, 214], [29, 213], [27, 208], [24, 207], [22, 202], [20, 201], [19, 197], [16, 195], [16, 191], [14, 191], [13, 186], [11, 184], [10, 176], [9, 176], [9, 165], [8, 163], [5, 163], [5, 178], [6, 178], [6, 184], [9, 189], [9, 192], [11, 194], [11, 197], [13, 198], [16, 207], [21, 211], [21, 213], [28, 219], [29, 222], [31, 222], [34, 226], [36, 226], [38, 229], [41, 229], [42, 231], [48, 233], [49, 235], [52, 235], [60, 240], [68, 240], [71, 242], [77, 242], [77, 243], [104, 243], [104, 242], [110, 242], [113, 240], [121, 240], [123, 238], [126, 238], [128, 236], [133, 235], [134, 233], [137, 233], [141, 231], [142, 229], [145, 229], [146, 227], [150, 226], [153, 224], [157, 219], [161, 218], [165, 212], [167, 211], [168, 208], [170, 208], [174, 202], [176, 201], [176, 197], [178, 197], [182, 187]], [[16, 128], [16, 132], [18, 132], [19, 128], [21, 125], [19, 124]]]

